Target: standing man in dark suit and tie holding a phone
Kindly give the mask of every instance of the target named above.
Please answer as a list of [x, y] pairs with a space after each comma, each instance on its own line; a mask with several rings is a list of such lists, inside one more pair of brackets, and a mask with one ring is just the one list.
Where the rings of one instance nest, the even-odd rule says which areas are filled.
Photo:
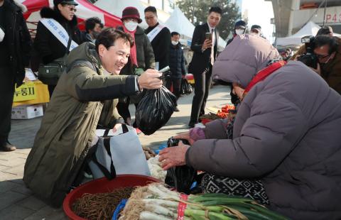
[[[205, 105], [211, 85], [212, 65], [217, 57], [219, 31], [215, 28], [222, 18], [222, 9], [212, 7], [208, 13], [207, 23], [196, 26], [193, 33], [192, 62], [189, 70], [193, 73], [195, 80], [195, 91], [188, 126], [193, 128], [199, 121], [199, 116], [205, 114]], [[208, 38], [212, 34], [212, 39]], [[206, 37], [207, 35], [207, 37]]]

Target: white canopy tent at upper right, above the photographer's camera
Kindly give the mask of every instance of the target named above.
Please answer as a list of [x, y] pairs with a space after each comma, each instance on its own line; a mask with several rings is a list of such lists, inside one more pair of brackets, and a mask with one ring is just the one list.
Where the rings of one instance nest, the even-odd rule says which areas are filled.
[[[293, 35], [291, 35], [289, 37], [286, 37], [286, 38], [277, 38], [276, 39], [276, 45], [282, 45], [282, 46], [286, 46], [286, 45], [301, 45], [301, 38], [302, 37], [307, 36], [307, 35], [315, 36], [316, 33], [318, 33], [318, 30], [320, 28], [321, 27], [318, 26], [316, 23], [313, 23], [313, 21], [309, 21], [297, 33], [295, 33], [295, 34], [293, 34]], [[333, 35], [341, 36], [338, 33], [334, 33]]]

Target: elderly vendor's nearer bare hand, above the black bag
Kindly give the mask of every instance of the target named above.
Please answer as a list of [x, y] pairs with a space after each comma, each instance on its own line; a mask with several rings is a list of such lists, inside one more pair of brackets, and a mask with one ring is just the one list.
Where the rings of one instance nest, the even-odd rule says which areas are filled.
[[186, 164], [186, 152], [190, 145], [179, 142], [177, 147], [165, 148], [160, 151], [158, 161], [161, 162], [163, 170], [168, 170], [171, 167], [182, 166]]

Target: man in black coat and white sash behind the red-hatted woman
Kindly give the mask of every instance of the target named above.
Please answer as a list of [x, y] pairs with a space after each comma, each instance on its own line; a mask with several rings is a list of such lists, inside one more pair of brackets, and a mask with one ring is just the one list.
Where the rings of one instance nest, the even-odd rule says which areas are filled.
[[169, 46], [171, 44], [171, 31], [158, 23], [158, 14], [154, 6], [144, 9], [144, 18], [148, 28], [144, 31], [153, 47], [156, 69], [161, 70], [169, 65]]

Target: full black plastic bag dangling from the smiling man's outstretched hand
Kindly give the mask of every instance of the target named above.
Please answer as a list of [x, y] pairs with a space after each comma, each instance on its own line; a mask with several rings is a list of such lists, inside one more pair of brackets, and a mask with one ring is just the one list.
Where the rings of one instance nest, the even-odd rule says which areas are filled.
[[147, 90], [136, 109], [136, 124], [145, 135], [151, 135], [167, 123], [175, 107], [176, 97], [166, 87]]

